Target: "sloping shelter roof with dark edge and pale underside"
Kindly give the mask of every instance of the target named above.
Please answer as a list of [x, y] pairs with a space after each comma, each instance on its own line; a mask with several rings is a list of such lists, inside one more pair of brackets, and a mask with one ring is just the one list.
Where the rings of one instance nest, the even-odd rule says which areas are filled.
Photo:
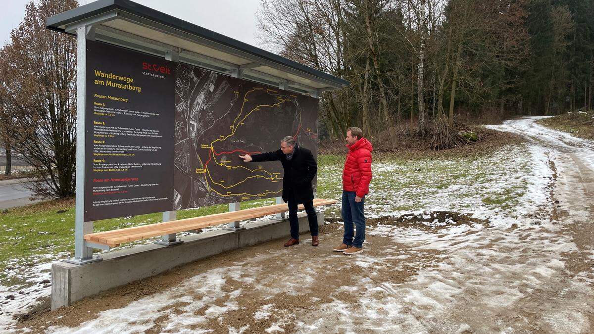
[[95, 40], [164, 57], [246, 80], [318, 96], [349, 81], [204, 29], [129, 0], [98, 0], [48, 18], [47, 28], [77, 34], [86, 24]]

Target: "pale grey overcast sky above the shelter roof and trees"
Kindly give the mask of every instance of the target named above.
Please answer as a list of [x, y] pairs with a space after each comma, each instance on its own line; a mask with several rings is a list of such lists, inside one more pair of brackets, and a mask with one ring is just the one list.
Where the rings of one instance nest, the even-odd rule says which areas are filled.
[[[23, 20], [30, 0], [0, 0], [0, 45], [10, 39], [10, 31]], [[95, 0], [78, 0], [89, 4]], [[132, 0], [184, 21], [216, 31], [242, 42], [257, 45], [255, 12], [260, 0]]]

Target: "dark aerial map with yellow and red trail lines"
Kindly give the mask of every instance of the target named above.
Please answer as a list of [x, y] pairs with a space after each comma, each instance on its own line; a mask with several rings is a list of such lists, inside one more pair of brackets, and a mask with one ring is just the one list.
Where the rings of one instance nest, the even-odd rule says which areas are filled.
[[175, 210], [280, 196], [280, 162], [239, 155], [277, 150], [285, 136], [317, 152], [313, 97], [179, 64], [175, 105]]

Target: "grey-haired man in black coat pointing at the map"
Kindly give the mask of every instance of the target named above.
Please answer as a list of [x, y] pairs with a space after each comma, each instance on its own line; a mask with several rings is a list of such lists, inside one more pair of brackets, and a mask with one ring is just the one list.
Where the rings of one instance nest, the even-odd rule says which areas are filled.
[[283, 177], [283, 200], [289, 204], [289, 223], [291, 226], [291, 238], [286, 242], [285, 247], [299, 244], [299, 220], [297, 219], [297, 206], [303, 204], [309, 231], [311, 232], [311, 245], [317, 246], [318, 241], [318, 217], [314, 209], [314, 190], [311, 181], [318, 171], [311, 151], [305, 147], [299, 147], [295, 138], [287, 136], [280, 141], [280, 149], [274, 152], [261, 153], [259, 155], [240, 155], [244, 162], [280, 161], [285, 169]]

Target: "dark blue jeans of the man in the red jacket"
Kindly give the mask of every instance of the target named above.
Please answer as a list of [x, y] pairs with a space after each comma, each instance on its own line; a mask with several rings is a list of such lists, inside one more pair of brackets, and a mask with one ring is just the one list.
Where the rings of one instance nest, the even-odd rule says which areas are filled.
[[[342, 242], [361, 248], [365, 240], [365, 215], [363, 213], [365, 196], [359, 203], [355, 201], [355, 196], [355, 191], [342, 191], [342, 220], [345, 222], [345, 237]], [[357, 229], [355, 240], [353, 240], [353, 223]]]

